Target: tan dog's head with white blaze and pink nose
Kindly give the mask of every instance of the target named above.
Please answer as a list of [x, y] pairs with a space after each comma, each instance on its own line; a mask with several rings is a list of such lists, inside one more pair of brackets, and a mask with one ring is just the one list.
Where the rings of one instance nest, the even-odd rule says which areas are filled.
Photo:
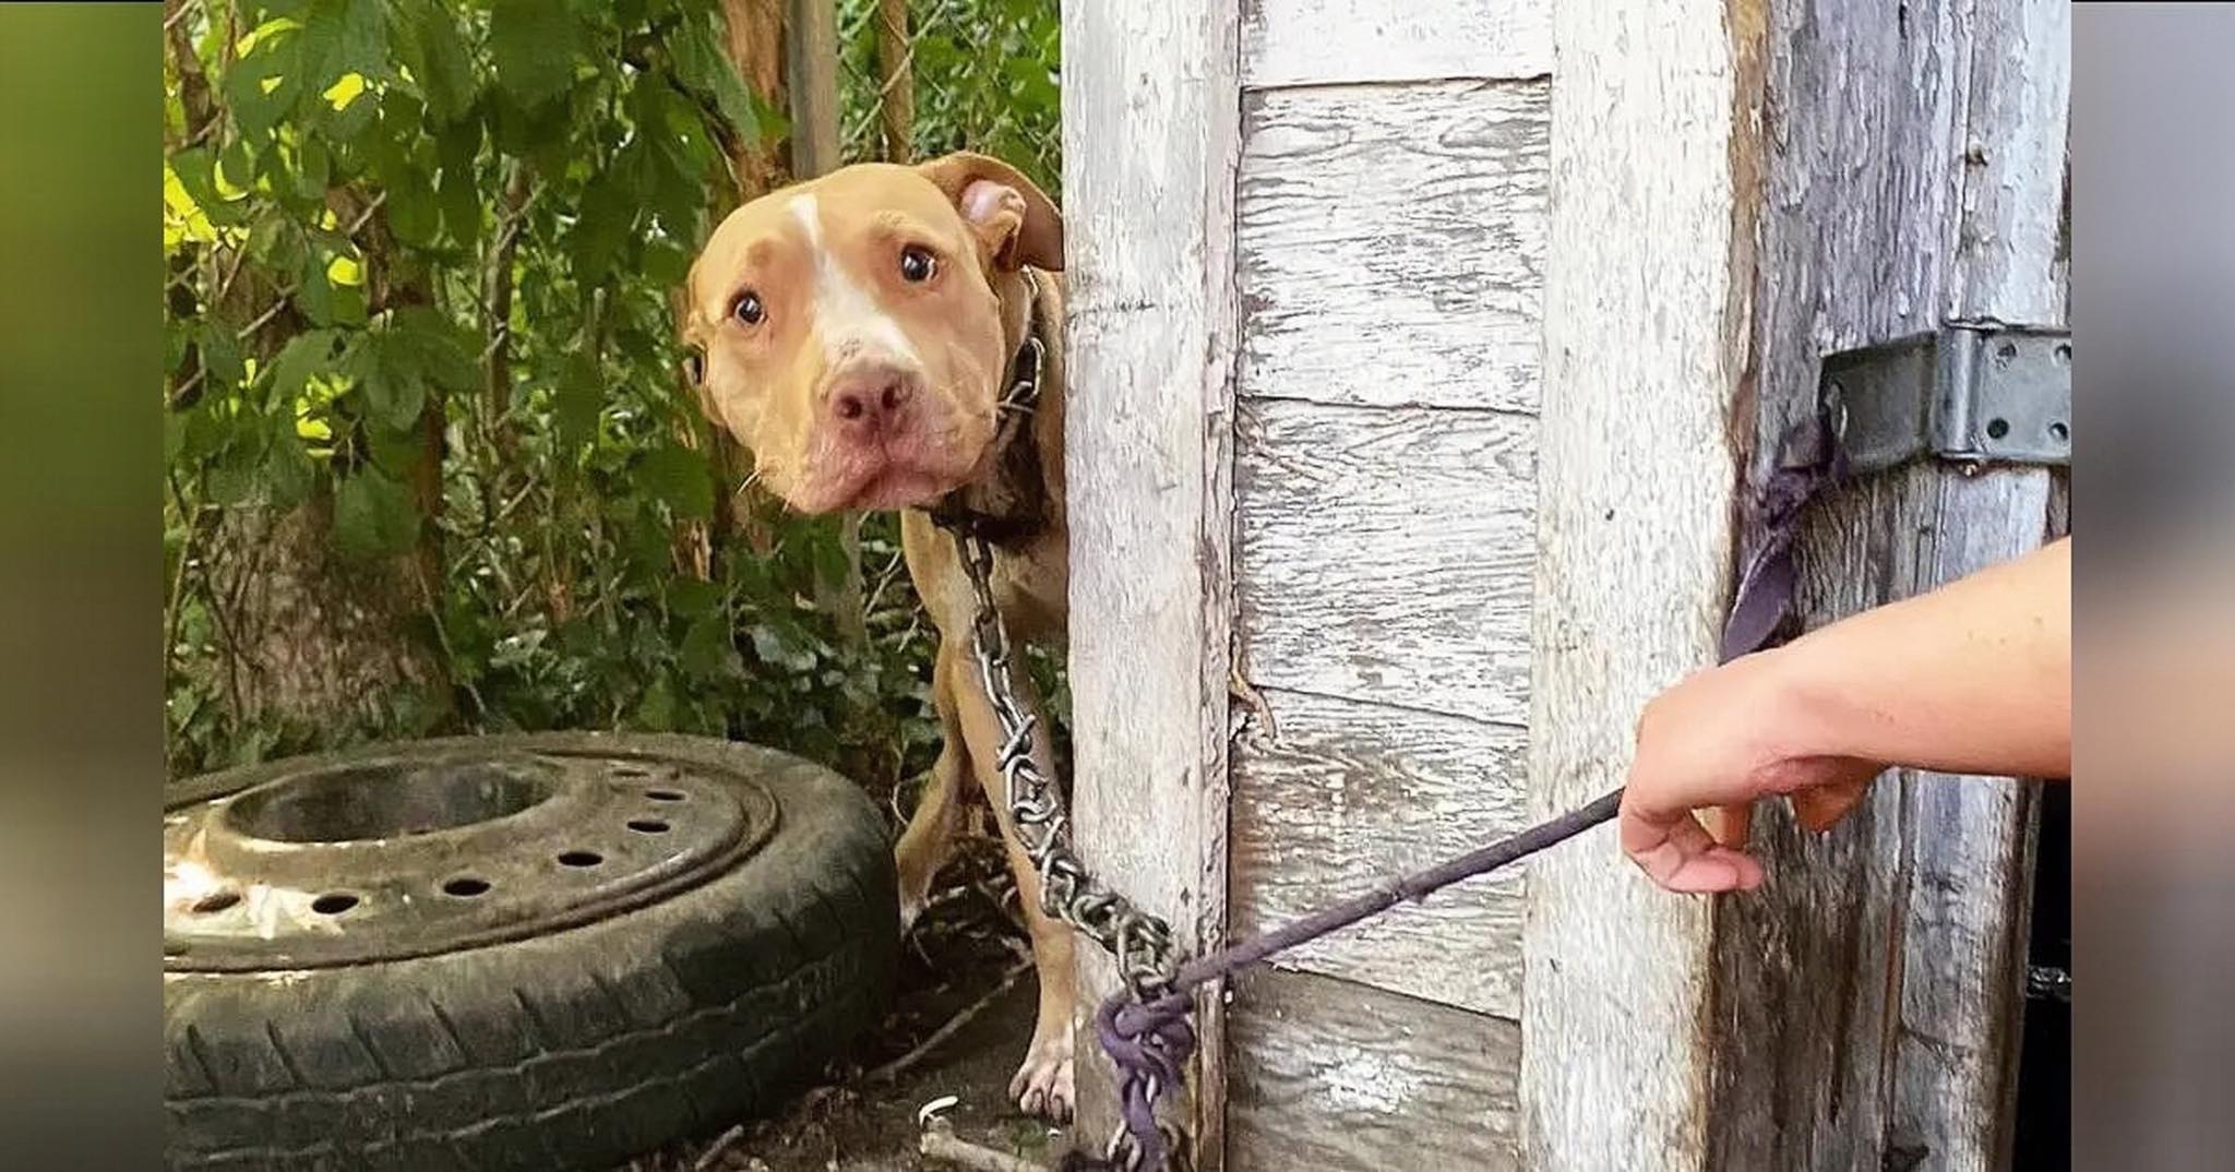
[[706, 414], [800, 512], [928, 505], [992, 459], [1021, 266], [1064, 266], [1008, 163], [863, 163], [729, 215], [691, 266]]

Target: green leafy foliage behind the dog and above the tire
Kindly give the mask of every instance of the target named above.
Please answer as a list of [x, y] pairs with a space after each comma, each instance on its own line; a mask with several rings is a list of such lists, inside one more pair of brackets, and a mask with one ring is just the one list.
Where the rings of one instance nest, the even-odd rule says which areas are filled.
[[[874, 74], [865, 2], [843, 54]], [[168, 727], [190, 774], [364, 738], [936, 745], [896, 528], [738, 485], [673, 291], [784, 116], [711, 0], [172, 4]], [[934, 4], [916, 143], [1057, 172], [1055, 7]], [[878, 89], [847, 85], [847, 127]], [[849, 136], [867, 154], [869, 139]]]

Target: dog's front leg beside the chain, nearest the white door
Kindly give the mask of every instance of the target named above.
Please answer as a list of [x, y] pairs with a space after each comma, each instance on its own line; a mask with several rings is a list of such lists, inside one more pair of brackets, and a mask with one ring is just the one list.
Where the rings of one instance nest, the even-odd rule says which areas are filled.
[[[1017, 702], [1033, 713], [1033, 760], [1042, 776], [1055, 778], [1055, 760], [1048, 747], [1048, 722], [1042, 718], [1039, 693], [1033, 680], [1015, 673]], [[957, 709], [961, 713], [963, 738], [970, 747], [970, 767], [977, 772], [986, 801], [992, 803], [1001, 821], [1001, 845], [1008, 848], [1008, 868], [1017, 877], [1017, 897], [1024, 901], [1024, 919], [1033, 933], [1033, 968], [1039, 973], [1039, 1018], [1033, 1024], [1033, 1045], [1024, 1053], [1024, 1065], [1008, 1085], [1008, 1094], [1030, 1114], [1048, 1116], [1057, 1123], [1071, 1118], [1075, 1098], [1071, 1074], [1071, 1011], [1077, 1004], [1077, 975], [1073, 973], [1071, 928], [1039, 910], [1039, 875], [1033, 859], [1017, 841], [1017, 825], [1008, 812], [1008, 783], [1001, 778], [1001, 729], [986, 700], [983, 680], [977, 664], [954, 673]]]

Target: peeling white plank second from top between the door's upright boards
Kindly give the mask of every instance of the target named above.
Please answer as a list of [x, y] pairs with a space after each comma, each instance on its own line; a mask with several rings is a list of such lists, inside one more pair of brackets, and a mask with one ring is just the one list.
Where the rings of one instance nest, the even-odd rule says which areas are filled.
[[1249, 96], [1243, 394], [1533, 412], [1549, 89]]

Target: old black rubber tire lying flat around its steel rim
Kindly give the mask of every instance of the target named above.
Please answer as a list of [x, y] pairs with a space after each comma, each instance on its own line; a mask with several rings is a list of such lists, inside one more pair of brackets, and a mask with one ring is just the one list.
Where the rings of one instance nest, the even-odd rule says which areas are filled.
[[[688, 881], [668, 875], [630, 899], [557, 919], [539, 913], [478, 937], [445, 928], [454, 946], [440, 930], [436, 944], [396, 933], [409, 946], [371, 946], [398, 955], [333, 953], [342, 930], [259, 960], [255, 939], [174, 937], [168, 899], [172, 1170], [606, 1170], [764, 1112], [883, 1013], [898, 960], [892, 861], [881, 814], [843, 778], [767, 749], [673, 736], [543, 734], [384, 752], [389, 765], [492, 752], [568, 769], [664, 763], [749, 785], [773, 816], [751, 850], [706, 854], [704, 875]], [[358, 756], [311, 765], [331, 774]], [[188, 783], [165, 807], [165, 832], [302, 769], [275, 763]], [[460, 828], [405, 834], [413, 837], [398, 841], [429, 848]], [[474, 863], [469, 841], [422, 854], [436, 859], [422, 868], [429, 883]], [[170, 859], [165, 848], [168, 897]], [[230, 899], [241, 904], [239, 892]], [[221, 955], [197, 968], [201, 944]]]

